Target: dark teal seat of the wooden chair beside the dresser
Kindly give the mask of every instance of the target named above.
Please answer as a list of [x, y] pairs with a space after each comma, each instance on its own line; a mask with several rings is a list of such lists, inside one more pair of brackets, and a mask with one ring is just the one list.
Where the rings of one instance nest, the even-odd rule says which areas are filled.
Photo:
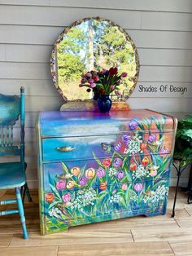
[[20, 188], [26, 176], [20, 162], [0, 163], [0, 189]]

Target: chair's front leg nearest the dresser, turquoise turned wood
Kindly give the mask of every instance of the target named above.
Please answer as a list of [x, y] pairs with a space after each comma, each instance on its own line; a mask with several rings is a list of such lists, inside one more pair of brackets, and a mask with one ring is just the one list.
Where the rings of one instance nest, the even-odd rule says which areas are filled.
[[25, 218], [24, 218], [24, 205], [21, 200], [20, 188], [15, 188], [15, 195], [16, 195], [18, 210], [20, 213], [20, 222], [22, 225], [23, 233], [24, 233], [24, 239], [28, 239], [28, 232], [27, 232]]

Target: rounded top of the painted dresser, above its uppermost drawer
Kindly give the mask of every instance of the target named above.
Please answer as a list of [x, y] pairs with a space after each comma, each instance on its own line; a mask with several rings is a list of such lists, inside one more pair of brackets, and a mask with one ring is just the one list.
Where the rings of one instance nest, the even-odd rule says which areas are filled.
[[[146, 109], [98, 113], [89, 111], [51, 111], [39, 114], [41, 135], [45, 137], [104, 135], [129, 130], [174, 128], [174, 120]], [[158, 127], [157, 127], [158, 126]]]

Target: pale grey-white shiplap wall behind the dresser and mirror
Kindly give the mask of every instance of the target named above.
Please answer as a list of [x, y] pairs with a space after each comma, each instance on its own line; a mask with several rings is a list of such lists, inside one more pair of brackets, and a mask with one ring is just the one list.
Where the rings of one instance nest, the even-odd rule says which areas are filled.
[[[137, 46], [141, 71], [131, 108], [151, 108], [176, 117], [192, 113], [191, 0], [0, 0], [0, 93], [26, 95], [28, 182], [37, 187], [35, 119], [63, 100], [50, 77], [50, 51], [73, 21], [102, 16], [120, 24]], [[188, 92], [141, 93], [139, 85], [185, 86]], [[140, 99], [142, 97], [142, 100]], [[182, 182], [187, 181], [187, 172]], [[172, 183], [176, 174], [172, 173]]]

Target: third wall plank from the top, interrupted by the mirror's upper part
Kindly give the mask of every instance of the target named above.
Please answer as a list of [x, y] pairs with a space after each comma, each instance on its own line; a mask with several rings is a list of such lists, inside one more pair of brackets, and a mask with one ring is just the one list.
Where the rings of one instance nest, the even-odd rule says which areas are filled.
[[[53, 45], [63, 27], [0, 24], [0, 43]], [[192, 49], [192, 33], [126, 29], [137, 47]]]

